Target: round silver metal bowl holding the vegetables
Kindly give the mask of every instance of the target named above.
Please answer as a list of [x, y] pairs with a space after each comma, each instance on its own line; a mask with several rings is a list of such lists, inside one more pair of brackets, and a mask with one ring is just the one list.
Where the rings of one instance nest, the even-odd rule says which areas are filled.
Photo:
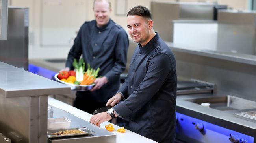
[[73, 91], [89, 91], [95, 85], [94, 83], [91, 84], [91, 85], [75, 85], [75, 84], [67, 83], [67, 82], [59, 80], [57, 78], [58, 75], [59, 75], [59, 73], [54, 75], [55, 80], [59, 83], [62, 83], [62, 84], [65, 84], [65, 85], [69, 86], [71, 88], [71, 90], [73, 90]]

